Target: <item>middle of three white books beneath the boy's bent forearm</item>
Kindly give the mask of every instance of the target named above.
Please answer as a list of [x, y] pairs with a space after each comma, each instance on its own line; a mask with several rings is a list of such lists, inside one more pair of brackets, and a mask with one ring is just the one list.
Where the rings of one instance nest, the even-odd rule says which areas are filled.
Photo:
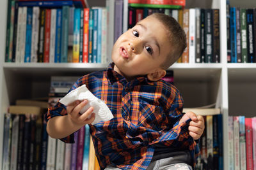
[[64, 169], [64, 153], [65, 153], [65, 143], [60, 139], [57, 139], [57, 150], [56, 150], [56, 165], [55, 170]]

